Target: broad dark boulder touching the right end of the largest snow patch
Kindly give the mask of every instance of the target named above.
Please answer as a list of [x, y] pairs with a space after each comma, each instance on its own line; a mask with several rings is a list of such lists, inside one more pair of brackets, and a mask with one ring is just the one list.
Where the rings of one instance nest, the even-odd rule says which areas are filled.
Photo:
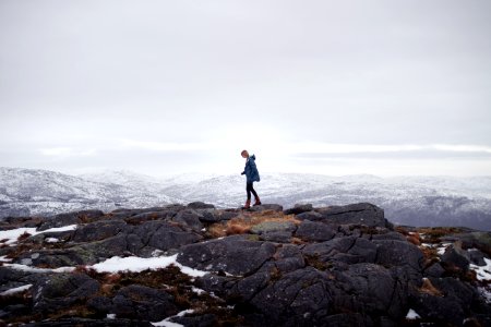
[[271, 259], [275, 251], [272, 243], [254, 242], [242, 235], [233, 235], [184, 245], [177, 261], [199, 270], [223, 270], [231, 275], [247, 275], [258, 270], [264, 262]]

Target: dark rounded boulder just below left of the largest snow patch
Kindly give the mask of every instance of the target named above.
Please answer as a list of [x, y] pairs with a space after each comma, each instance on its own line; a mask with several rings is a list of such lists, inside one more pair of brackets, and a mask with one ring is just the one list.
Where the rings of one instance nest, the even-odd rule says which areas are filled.
[[33, 310], [53, 313], [87, 300], [99, 290], [99, 282], [84, 274], [58, 274], [40, 279], [32, 288]]

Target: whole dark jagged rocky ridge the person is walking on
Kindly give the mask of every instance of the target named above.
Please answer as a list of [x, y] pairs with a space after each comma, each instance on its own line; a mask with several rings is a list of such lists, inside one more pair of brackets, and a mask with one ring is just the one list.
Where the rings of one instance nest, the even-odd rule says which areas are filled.
[[[0, 319], [7, 323], [491, 324], [489, 280], [479, 275], [491, 263], [490, 233], [394, 227], [371, 204], [283, 211], [191, 203], [0, 223], [0, 230], [20, 228], [31, 235], [0, 240]], [[116, 256], [175, 264], [97, 270]], [[418, 319], [407, 318], [410, 310]]]

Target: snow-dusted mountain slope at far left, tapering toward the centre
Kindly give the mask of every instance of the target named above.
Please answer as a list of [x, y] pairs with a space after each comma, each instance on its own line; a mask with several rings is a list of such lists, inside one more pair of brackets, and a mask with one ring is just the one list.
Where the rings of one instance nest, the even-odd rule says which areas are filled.
[[140, 187], [143, 181], [97, 182], [55, 171], [0, 168], [0, 217], [46, 216], [64, 211], [145, 207], [178, 199]]

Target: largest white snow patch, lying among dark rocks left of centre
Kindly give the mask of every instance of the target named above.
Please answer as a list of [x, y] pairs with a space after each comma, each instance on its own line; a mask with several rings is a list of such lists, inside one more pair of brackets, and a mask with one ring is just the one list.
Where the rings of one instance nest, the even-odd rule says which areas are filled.
[[166, 268], [170, 265], [175, 265], [181, 269], [182, 274], [189, 275], [191, 277], [203, 277], [207, 271], [196, 270], [191, 267], [183, 266], [177, 262], [177, 254], [172, 256], [158, 256], [158, 257], [119, 257], [113, 256], [105, 262], [95, 264], [92, 266], [96, 271], [99, 272], [118, 272], [118, 271], [131, 271], [140, 272], [146, 269], [159, 269]]

